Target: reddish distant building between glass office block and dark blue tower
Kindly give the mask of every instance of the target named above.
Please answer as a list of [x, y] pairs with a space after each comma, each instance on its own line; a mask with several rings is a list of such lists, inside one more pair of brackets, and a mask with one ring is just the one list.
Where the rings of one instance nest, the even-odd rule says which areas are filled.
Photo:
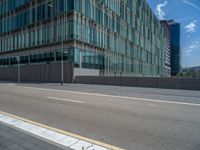
[[165, 75], [171, 76], [171, 50], [170, 50], [170, 26], [166, 20], [160, 21], [165, 28]]

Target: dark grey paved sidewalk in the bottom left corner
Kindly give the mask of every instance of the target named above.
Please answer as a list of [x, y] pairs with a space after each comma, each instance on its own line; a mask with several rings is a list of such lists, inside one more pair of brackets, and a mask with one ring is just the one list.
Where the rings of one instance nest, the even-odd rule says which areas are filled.
[[0, 150], [63, 150], [0, 123]]

